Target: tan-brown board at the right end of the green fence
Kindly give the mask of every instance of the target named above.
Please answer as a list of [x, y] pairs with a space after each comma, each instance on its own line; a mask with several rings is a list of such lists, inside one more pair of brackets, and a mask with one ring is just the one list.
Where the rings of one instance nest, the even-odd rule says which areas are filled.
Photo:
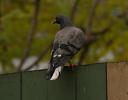
[[128, 63], [107, 64], [108, 100], [128, 100]]

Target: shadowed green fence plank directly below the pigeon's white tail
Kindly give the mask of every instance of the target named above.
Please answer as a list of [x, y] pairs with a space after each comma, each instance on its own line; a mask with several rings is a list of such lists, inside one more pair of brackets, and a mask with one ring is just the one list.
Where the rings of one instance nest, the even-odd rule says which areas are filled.
[[48, 100], [75, 100], [75, 71], [64, 70], [56, 81], [48, 81]]

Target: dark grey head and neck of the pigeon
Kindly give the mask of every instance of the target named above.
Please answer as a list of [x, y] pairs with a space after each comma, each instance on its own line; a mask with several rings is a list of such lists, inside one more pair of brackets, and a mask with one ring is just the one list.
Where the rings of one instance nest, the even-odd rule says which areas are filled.
[[60, 25], [60, 29], [63, 29], [67, 26], [72, 26], [72, 22], [70, 21], [70, 19], [62, 15], [56, 16], [54, 24], [55, 23]]

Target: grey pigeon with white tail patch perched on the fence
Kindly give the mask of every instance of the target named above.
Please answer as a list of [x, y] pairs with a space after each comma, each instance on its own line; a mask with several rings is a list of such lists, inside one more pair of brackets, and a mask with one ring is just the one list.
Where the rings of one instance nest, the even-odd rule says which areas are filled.
[[52, 46], [51, 59], [46, 73], [47, 80], [59, 78], [64, 65], [76, 55], [85, 44], [84, 32], [73, 26], [71, 20], [62, 15], [55, 18], [54, 24], [60, 25]]

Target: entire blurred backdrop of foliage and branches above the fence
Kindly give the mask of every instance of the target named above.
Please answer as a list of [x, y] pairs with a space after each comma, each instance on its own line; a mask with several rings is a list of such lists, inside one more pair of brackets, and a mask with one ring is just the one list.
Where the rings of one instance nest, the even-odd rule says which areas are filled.
[[1, 74], [47, 68], [57, 15], [87, 37], [73, 63], [128, 59], [128, 0], [0, 0]]

